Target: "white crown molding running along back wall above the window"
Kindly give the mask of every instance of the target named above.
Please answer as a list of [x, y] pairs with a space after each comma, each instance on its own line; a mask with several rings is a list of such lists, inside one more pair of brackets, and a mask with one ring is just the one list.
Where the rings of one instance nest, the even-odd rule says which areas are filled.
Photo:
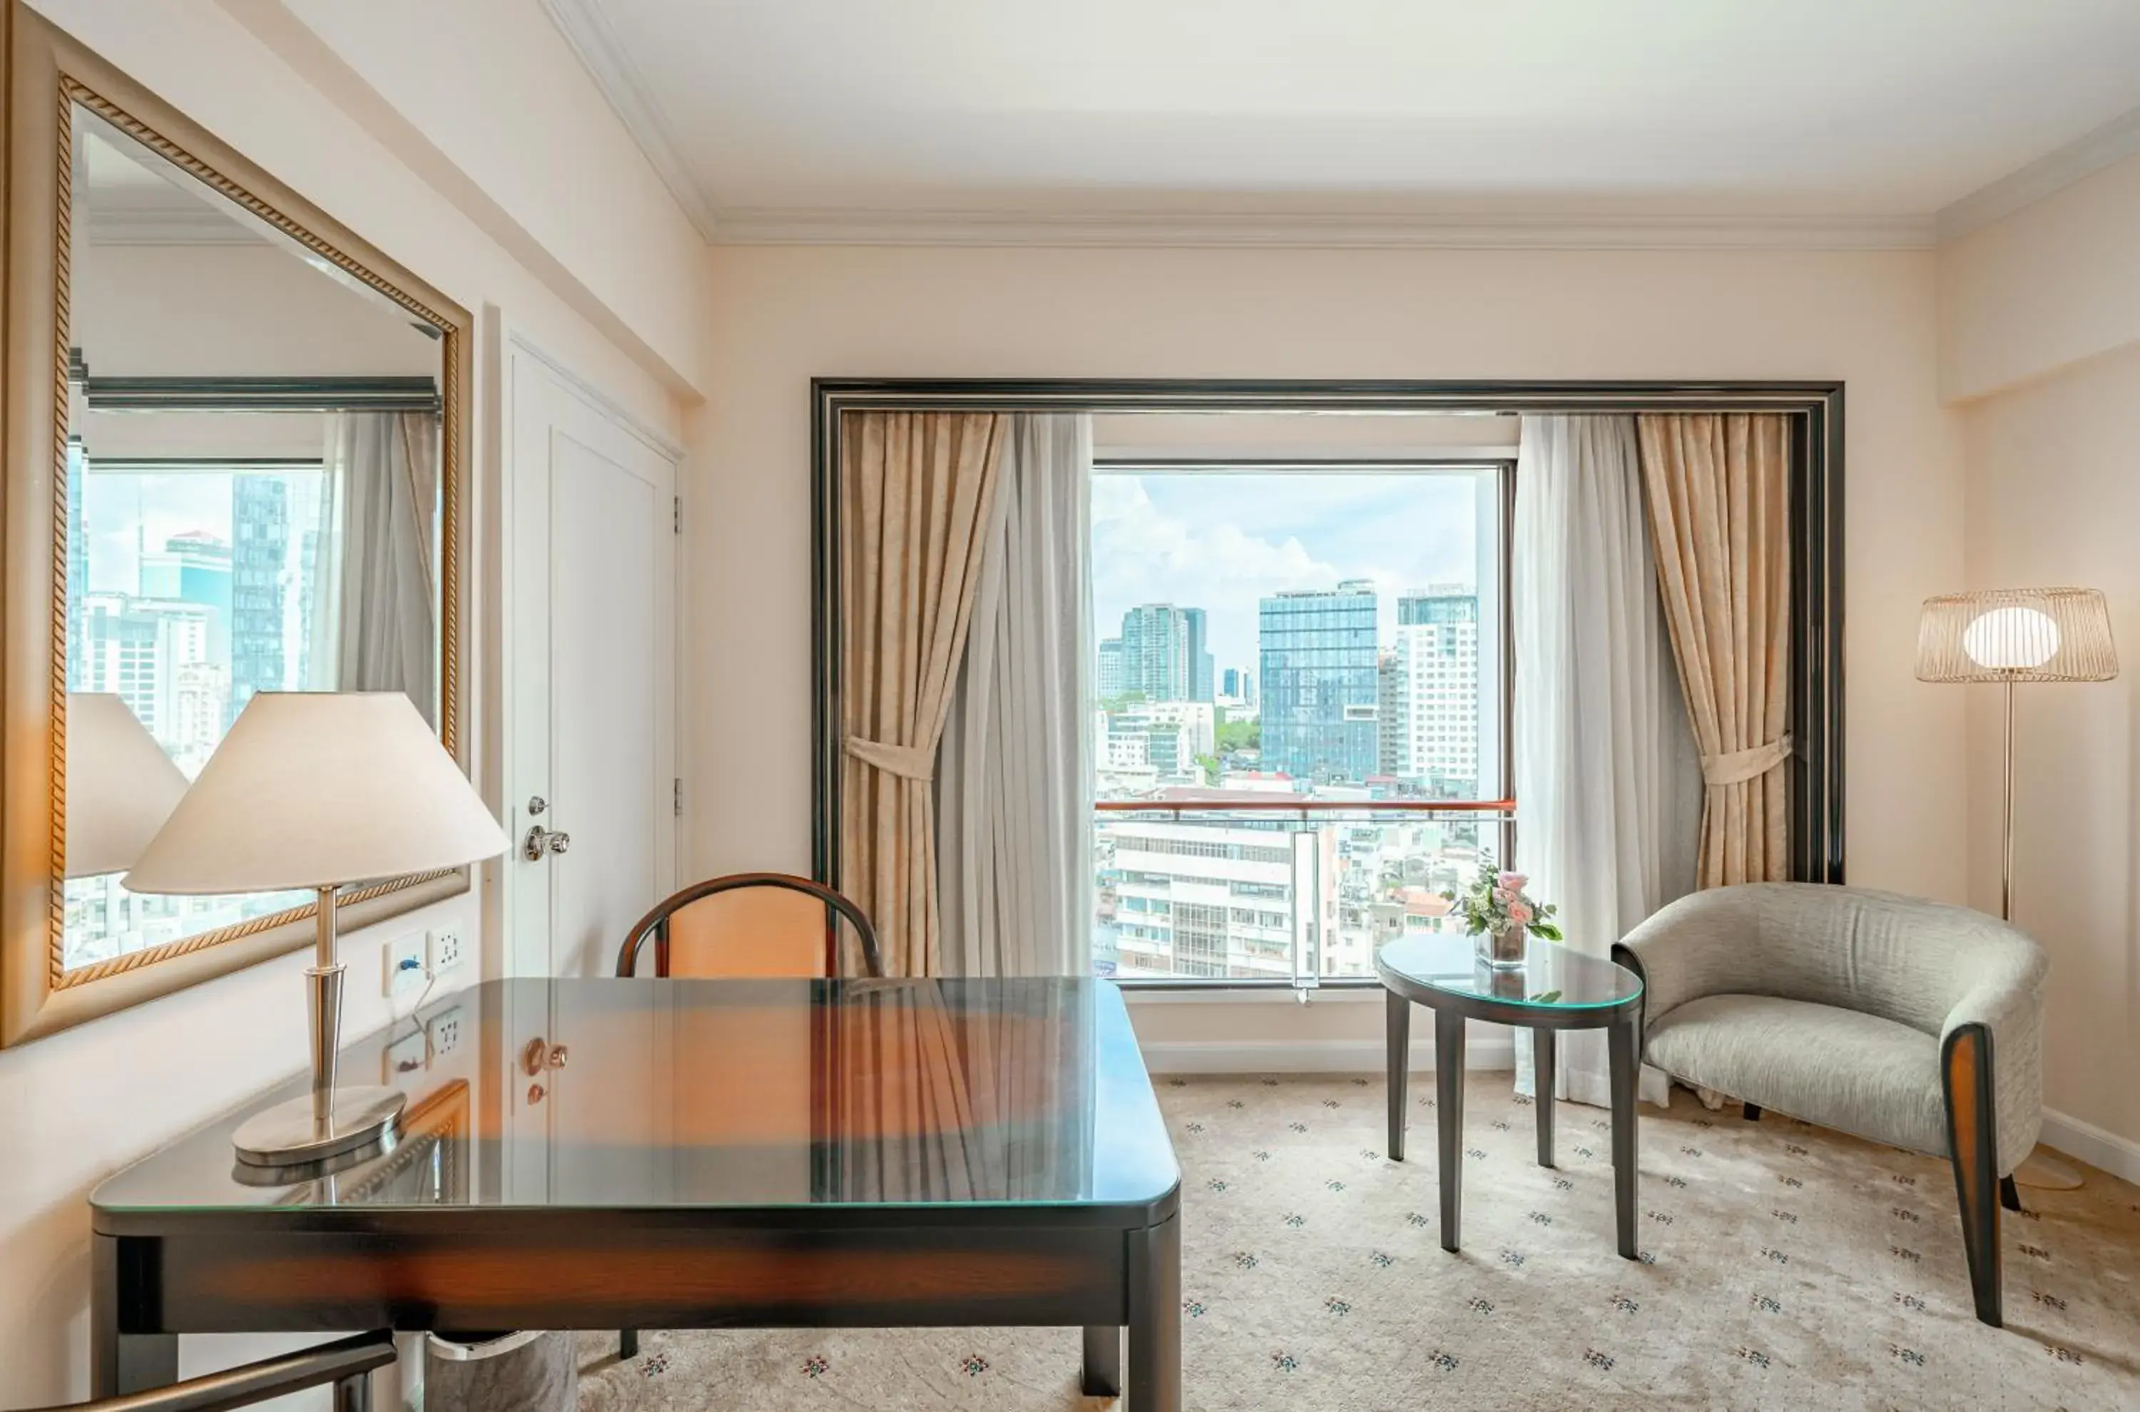
[[1920, 216], [723, 210], [723, 246], [1265, 246], [1361, 250], [1928, 250]]

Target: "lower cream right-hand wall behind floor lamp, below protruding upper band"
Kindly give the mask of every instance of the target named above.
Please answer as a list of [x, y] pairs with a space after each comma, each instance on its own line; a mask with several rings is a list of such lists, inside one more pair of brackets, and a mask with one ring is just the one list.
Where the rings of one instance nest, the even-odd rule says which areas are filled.
[[[2114, 682], [2018, 691], [2014, 920], [2050, 954], [2046, 1102], [2140, 1157], [2140, 344], [1977, 402], [1965, 428], [1965, 582], [2101, 588], [2125, 657]], [[1924, 691], [1971, 697], [1969, 901], [1997, 914], [2001, 693]], [[2052, 1140], [2114, 1160], [2086, 1130]]]

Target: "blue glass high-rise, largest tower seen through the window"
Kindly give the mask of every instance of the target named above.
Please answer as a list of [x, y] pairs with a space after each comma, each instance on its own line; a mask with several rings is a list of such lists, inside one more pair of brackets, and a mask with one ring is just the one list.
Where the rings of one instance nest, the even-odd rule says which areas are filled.
[[1263, 768], [1295, 779], [1378, 772], [1376, 593], [1367, 580], [1260, 603]]

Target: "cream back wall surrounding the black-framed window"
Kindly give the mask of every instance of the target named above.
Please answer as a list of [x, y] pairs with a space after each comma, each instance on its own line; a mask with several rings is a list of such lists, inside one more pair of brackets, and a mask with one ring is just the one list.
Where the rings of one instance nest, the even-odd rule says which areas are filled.
[[[687, 496], [691, 871], [809, 866], [809, 379], [1843, 379], [1853, 881], [1965, 894], [1962, 702], [1911, 676], [1962, 573], [1926, 252], [721, 248]], [[1380, 1012], [1280, 1008], [1273, 1040]], [[1241, 1035], [1141, 1006], [1147, 1042]]]

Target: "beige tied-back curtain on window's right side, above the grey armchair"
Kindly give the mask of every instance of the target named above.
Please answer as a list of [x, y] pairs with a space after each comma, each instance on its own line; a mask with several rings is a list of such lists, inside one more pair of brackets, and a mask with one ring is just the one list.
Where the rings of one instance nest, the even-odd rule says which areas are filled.
[[1656, 586], [1701, 751], [1697, 886], [1787, 879], [1789, 421], [1658, 415], [1637, 430]]

